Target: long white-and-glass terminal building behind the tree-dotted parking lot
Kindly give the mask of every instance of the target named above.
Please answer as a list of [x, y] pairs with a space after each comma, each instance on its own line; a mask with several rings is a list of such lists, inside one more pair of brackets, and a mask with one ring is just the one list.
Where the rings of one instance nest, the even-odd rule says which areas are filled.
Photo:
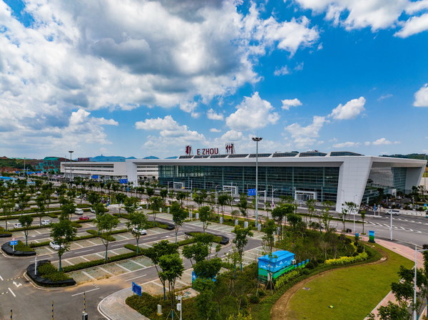
[[[291, 196], [297, 201], [315, 199], [336, 202], [340, 211], [346, 201], [368, 203], [385, 194], [408, 193], [419, 185], [425, 160], [377, 157], [351, 152], [259, 153], [182, 155], [175, 159], [130, 159], [126, 162], [72, 162], [75, 174], [112, 175], [128, 178], [134, 185], [143, 176], [155, 176], [161, 185], [173, 189], [227, 190], [233, 195], [255, 189], [258, 160], [259, 197]], [[61, 164], [68, 175], [69, 162]], [[101, 166], [101, 167], [100, 167]], [[151, 176], [150, 175], [150, 176]]]

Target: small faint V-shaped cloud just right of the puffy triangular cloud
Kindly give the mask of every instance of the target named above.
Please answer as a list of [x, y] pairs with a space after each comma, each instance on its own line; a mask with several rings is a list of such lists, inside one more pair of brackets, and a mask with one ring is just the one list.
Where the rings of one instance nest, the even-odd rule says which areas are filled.
[[298, 123], [293, 123], [288, 125], [285, 130], [290, 133], [297, 148], [304, 148], [317, 142], [320, 130], [325, 123], [328, 123], [325, 117], [315, 115], [310, 125], [302, 127]]

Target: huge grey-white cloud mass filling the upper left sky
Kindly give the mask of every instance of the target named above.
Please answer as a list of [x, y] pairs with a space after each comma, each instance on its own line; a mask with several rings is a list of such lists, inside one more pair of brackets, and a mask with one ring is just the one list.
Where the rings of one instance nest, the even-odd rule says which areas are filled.
[[195, 97], [208, 103], [257, 83], [261, 56], [294, 54], [319, 36], [305, 17], [265, 19], [235, 1], [24, 4], [31, 26], [0, 1], [0, 106], [9, 119], [0, 132], [14, 134], [66, 128], [78, 109], [178, 107], [198, 117]]

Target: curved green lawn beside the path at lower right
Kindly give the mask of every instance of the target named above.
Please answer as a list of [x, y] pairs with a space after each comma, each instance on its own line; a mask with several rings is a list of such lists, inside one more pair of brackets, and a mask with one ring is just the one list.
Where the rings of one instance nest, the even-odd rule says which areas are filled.
[[[382, 248], [383, 249], [383, 248]], [[337, 269], [312, 279], [290, 299], [284, 319], [362, 320], [398, 280], [400, 265], [412, 262], [388, 249], [386, 262]], [[329, 308], [334, 306], [334, 308]]]

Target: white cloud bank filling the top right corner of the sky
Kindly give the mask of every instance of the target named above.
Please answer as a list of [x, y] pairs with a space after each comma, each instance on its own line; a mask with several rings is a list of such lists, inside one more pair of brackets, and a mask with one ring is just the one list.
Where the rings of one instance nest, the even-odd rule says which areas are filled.
[[[295, 0], [316, 14], [325, 13], [325, 19], [347, 30], [369, 27], [372, 31], [403, 26], [396, 36], [405, 38], [428, 30], [424, 10], [426, 0]], [[404, 13], [406, 15], [404, 15]], [[401, 18], [401, 19], [400, 19]]]

